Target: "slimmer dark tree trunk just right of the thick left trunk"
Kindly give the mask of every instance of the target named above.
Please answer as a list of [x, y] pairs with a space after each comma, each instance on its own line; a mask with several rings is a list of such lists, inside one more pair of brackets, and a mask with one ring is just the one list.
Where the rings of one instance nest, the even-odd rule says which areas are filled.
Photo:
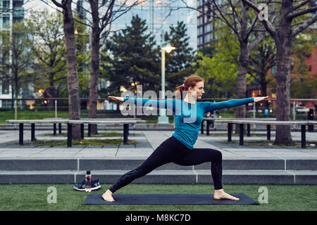
[[[89, 118], [97, 118], [98, 75], [99, 75], [99, 11], [98, 1], [89, 1], [92, 8], [92, 34], [90, 36], [90, 51], [92, 53], [92, 72], [89, 89]], [[98, 134], [97, 124], [92, 124], [92, 134]]]

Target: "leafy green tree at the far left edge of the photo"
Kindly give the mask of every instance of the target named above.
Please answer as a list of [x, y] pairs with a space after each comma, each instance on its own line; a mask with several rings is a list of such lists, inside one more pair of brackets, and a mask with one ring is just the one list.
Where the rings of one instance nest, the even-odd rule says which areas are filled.
[[13, 24], [12, 32], [1, 32], [1, 79], [11, 83], [12, 98], [18, 98], [19, 90], [27, 83], [33, 56], [30, 28], [23, 22]]

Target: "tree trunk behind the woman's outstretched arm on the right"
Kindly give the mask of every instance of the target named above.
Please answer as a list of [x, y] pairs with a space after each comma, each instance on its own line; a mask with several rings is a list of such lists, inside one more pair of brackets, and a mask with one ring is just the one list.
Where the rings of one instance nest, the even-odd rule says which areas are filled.
[[[247, 91], [247, 68], [249, 65], [249, 50], [247, 43], [240, 41], [240, 56], [237, 73], [237, 98], [245, 98]], [[237, 107], [236, 118], [245, 118], [246, 108], [245, 105]], [[239, 133], [239, 126], [235, 126], [235, 132]]]

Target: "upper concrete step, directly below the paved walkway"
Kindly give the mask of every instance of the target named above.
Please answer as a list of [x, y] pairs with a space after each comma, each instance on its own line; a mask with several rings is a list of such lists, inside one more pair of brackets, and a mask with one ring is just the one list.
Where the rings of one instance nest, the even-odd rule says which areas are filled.
[[[130, 170], [142, 165], [146, 158], [0, 158], [0, 170], [4, 171], [46, 171], [46, 170]], [[174, 163], [158, 169], [192, 170], [210, 169], [211, 162], [201, 165], [180, 166]], [[237, 170], [317, 170], [317, 160], [311, 158], [226, 158], [223, 169]]]

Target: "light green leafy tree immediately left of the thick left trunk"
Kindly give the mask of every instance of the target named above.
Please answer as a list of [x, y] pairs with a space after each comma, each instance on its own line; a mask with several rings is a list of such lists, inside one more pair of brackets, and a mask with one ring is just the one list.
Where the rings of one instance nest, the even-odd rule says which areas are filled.
[[[60, 13], [42, 11], [33, 13], [27, 20], [35, 38], [36, 84], [45, 89], [47, 98], [56, 98], [56, 86], [66, 82], [65, 40], [63, 39], [63, 18]], [[48, 105], [54, 106], [54, 101]]]

